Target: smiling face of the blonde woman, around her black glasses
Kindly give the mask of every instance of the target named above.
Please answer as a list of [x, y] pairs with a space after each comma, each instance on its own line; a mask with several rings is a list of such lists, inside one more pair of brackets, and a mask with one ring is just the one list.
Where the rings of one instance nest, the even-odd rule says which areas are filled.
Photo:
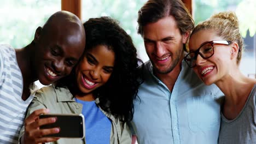
[[[223, 40], [216, 32], [211, 29], [200, 30], [191, 35], [189, 40], [189, 51], [196, 51], [201, 44], [206, 41]], [[207, 59], [203, 59], [197, 55], [196, 65], [193, 68], [197, 76], [205, 82], [206, 85], [211, 85], [231, 72], [231, 45], [216, 44], [214, 47], [214, 54]], [[234, 61], [234, 60], [233, 60]]]

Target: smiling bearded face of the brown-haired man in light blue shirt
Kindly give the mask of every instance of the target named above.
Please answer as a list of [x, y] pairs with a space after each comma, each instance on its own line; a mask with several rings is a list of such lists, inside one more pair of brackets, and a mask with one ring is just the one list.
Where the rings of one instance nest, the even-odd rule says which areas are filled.
[[143, 26], [144, 45], [154, 70], [170, 73], [183, 58], [188, 33], [181, 34], [173, 16]]

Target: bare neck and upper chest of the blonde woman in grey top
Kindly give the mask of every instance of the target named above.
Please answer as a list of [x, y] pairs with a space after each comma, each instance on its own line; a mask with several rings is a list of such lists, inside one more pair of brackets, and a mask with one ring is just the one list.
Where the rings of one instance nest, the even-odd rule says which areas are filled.
[[239, 70], [216, 82], [225, 95], [222, 112], [227, 119], [234, 119], [241, 112], [254, 83], [255, 80], [244, 76]]

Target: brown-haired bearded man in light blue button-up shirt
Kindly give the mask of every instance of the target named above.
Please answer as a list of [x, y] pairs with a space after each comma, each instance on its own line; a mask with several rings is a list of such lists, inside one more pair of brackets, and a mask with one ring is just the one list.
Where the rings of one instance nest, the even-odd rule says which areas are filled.
[[137, 21], [150, 59], [134, 101], [138, 143], [217, 143], [223, 93], [183, 61], [194, 28], [188, 10], [181, 0], [149, 0]]

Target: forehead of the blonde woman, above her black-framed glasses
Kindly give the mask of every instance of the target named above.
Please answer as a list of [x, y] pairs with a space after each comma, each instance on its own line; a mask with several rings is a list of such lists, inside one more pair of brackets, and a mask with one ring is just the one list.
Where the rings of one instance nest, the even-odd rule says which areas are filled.
[[213, 29], [203, 29], [190, 36], [189, 50], [197, 50], [205, 41], [222, 40]]

